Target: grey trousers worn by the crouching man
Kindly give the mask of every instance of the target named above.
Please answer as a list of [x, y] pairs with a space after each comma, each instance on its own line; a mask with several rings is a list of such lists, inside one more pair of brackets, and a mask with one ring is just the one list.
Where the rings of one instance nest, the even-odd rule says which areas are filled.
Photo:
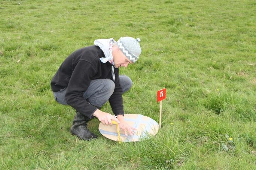
[[[132, 81], [128, 76], [119, 75], [120, 85], [123, 93], [128, 91], [132, 86]], [[115, 83], [110, 79], [92, 80], [88, 89], [83, 93], [83, 98], [90, 104], [101, 107], [105, 104], [115, 89]], [[63, 105], [68, 105], [65, 100], [67, 88], [54, 92], [55, 100]]]

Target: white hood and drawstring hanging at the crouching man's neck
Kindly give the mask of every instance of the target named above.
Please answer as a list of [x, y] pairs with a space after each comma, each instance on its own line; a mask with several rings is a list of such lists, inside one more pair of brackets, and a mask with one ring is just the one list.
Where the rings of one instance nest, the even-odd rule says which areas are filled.
[[115, 78], [115, 72], [114, 72], [114, 60], [113, 60], [113, 43], [116, 42], [113, 38], [110, 39], [98, 39], [94, 41], [94, 45], [100, 47], [100, 49], [103, 51], [105, 57], [101, 57], [100, 61], [103, 63], [110, 62], [112, 66], [112, 78], [113, 81], [116, 81]]

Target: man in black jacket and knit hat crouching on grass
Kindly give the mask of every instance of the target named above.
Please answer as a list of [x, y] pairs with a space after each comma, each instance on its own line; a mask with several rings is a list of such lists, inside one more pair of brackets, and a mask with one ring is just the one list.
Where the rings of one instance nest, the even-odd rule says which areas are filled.
[[[103, 124], [119, 123], [125, 135], [133, 127], [124, 120], [122, 94], [131, 88], [128, 76], [119, 75], [119, 67], [138, 60], [140, 39], [121, 37], [117, 42], [99, 39], [94, 45], [74, 51], [61, 64], [51, 81], [55, 100], [76, 110], [70, 132], [83, 140], [97, 138], [87, 128], [87, 122], [97, 117]], [[109, 101], [115, 116], [100, 110]]]

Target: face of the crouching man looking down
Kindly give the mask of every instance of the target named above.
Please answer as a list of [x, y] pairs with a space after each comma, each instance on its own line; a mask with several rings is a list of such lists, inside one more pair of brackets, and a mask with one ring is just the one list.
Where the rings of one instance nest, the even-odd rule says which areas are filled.
[[116, 68], [127, 67], [129, 64], [132, 64], [122, 51], [116, 46], [113, 48], [113, 60]]

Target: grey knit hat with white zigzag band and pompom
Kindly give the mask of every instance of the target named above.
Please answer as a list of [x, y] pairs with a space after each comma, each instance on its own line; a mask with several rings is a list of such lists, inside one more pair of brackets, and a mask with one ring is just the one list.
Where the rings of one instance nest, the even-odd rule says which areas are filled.
[[124, 55], [133, 63], [135, 63], [141, 53], [139, 42], [140, 38], [137, 38], [135, 40], [132, 37], [121, 37], [117, 41], [117, 45], [119, 49], [124, 53]]

